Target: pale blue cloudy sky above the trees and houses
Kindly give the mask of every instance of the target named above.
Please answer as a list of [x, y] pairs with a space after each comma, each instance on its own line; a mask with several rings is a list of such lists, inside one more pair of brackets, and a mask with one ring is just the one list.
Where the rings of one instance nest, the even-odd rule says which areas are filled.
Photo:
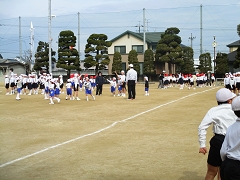
[[[0, 0], [0, 53], [4, 58], [19, 55], [19, 16], [21, 16], [22, 50], [30, 49], [30, 23], [35, 28], [37, 43], [48, 42], [48, 0]], [[62, 30], [78, 34], [80, 13], [80, 52], [84, 55], [86, 39], [92, 33], [104, 33], [109, 40], [143, 24], [143, 8], [148, 32], [163, 32], [178, 27], [184, 45], [192, 41], [194, 57], [200, 52], [200, 5], [203, 5], [203, 51], [213, 53], [213, 36], [217, 51], [228, 52], [227, 44], [239, 40], [240, 0], [51, 0], [53, 50], [57, 51], [57, 36]], [[142, 29], [140, 28], [142, 31]], [[212, 55], [213, 56], [213, 55]]]

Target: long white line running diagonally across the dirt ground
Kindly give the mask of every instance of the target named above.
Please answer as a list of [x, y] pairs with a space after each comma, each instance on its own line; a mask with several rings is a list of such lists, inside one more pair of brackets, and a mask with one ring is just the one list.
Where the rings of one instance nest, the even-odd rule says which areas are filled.
[[85, 138], [85, 137], [88, 137], [88, 136], [92, 136], [92, 135], [94, 135], [94, 134], [98, 134], [98, 133], [100, 133], [100, 132], [102, 132], [102, 131], [105, 131], [105, 130], [107, 130], [107, 129], [113, 127], [113, 126], [115, 126], [115, 125], [118, 124], [118, 123], [129, 121], [129, 120], [134, 119], [134, 118], [136, 118], [136, 117], [138, 117], [138, 116], [141, 116], [141, 115], [143, 115], [143, 114], [145, 114], [145, 113], [148, 113], [148, 112], [151, 112], [151, 111], [153, 111], [153, 110], [156, 110], [156, 109], [158, 109], [158, 108], [160, 108], [160, 107], [163, 107], [163, 106], [172, 104], [172, 103], [177, 102], [177, 101], [180, 101], [180, 100], [182, 100], [182, 99], [185, 99], [185, 98], [194, 96], [194, 95], [196, 95], [196, 94], [201, 94], [201, 93], [204, 93], [204, 92], [213, 90], [213, 89], [215, 89], [215, 88], [211, 88], [211, 89], [208, 89], [208, 90], [205, 90], [205, 91], [201, 91], [201, 92], [197, 92], [197, 93], [192, 93], [192, 94], [189, 94], [189, 95], [187, 95], [187, 96], [183, 96], [183, 97], [181, 97], [181, 98], [179, 98], [179, 99], [176, 99], [176, 100], [167, 102], [167, 103], [165, 103], [165, 104], [161, 104], [161, 105], [159, 105], [159, 106], [156, 106], [156, 107], [154, 107], [154, 108], [152, 108], [152, 109], [149, 109], [149, 110], [147, 110], [147, 111], [144, 111], [144, 112], [141, 112], [141, 113], [139, 113], [139, 114], [136, 114], [136, 115], [131, 116], [131, 117], [129, 117], [129, 118], [126, 118], [126, 119], [123, 119], [123, 120], [120, 120], [120, 121], [116, 121], [116, 122], [112, 123], [111, 125], [109, 125], [109, 126], [107, 126], [107, 127], [105, 127], [105, 128], [99, 129], [98, 131], [95, 131], [95, 132], [92, 132], [92, 133], [89, 133], [89, 134], [85, 134], [85, 135], [79, 136], [79, 137], [77, 137], [77, 138], [74, 138], [74, 139], [65, 141], [65, 142], [63, 142], [63, 143], [56, 144], [56, 145], [54, 145], [54, 146], [50, 146], [50, 147], [48, 147], [48, 148], [42, 149], [42, 150], [37, 151], [37, 152], [35, 152], [35, 153], [32, 153], [32, 154], [29, 154], [29, 155], [20, 157], [20, 158], [18, 158], [18, 159], [13, 160], [13, 161], [9, 161], [9, 162], [7, 162], [7, 163], [1, 164], [1, 165], [0, 165], [0, 168], [3, 168], [3, 167], [8, 166], [8, 165], [10, 165], [10, 164], [14, 164], [14, 163], [16, 163], [16, 162], [18, 162], [18, 161], [27, 159], [27, 158], [29, 158], [29, 157], [32, 157], [32, 156], [41, 154], [41, 153], [43, 153], [43, 152], [45, 152], [45, 151], [48, 151], [48, 150], [50, 150], [50, 149], [54, 149], [54, 148], [57, 148], [57, 147], [59, 147], [59, 146], [63, 146], [63, 145], [65, 145], [65, 144], [68, 144], [68, 143], [77, 141], [77, 140], [79, 140], [79, 139], [82, 139], [82, 138]]

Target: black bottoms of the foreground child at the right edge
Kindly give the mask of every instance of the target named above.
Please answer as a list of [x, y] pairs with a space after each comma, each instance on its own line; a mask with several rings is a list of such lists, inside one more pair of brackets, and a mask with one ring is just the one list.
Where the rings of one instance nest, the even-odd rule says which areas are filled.
[[239, 180], [240, 161], [226, 158], [222, 162], [220, 175], [222, 180]]

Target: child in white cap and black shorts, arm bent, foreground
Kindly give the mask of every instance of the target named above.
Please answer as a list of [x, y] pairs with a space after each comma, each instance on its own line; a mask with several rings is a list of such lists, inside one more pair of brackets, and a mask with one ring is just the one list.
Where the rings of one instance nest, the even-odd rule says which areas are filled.
[[215, 134], [210, 140], [210, 149], [207, 160], [207, 174], [205, 176], [205, 180], [213, 180], [217, 174], [220, 178], [219, 167], [222, 163], [220, 149], [222, 147], [227, 128], [236, 122], [237, 119], [231, 108], [232, 99], [235, 96], [236, 95], [229, 89], [219, 89], [216, 93], [218, 106], [211, 108], [207, 112], [198, 127], [198, 139], [200, 144], [199, 153], [204, 155], [208, 153], [206, 148], [206, 134], [210, 125], [213, 125], [212, 131]]

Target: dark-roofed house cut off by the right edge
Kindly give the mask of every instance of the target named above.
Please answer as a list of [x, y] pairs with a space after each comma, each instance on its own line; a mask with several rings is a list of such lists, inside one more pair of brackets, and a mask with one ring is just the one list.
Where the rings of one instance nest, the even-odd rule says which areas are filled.
[[237, 49], [238, 49], [238, 47], [240, 47], [240, 40], [235, 41], [231, 44], [228, 44], [227, 47], [229, 47], [228, 66], [229, 66], [230, 72], [240, 71], [240, 68], [238, 68], [238, 69], [233, 68], [233, 63], [234, 63], [234, 61], [236, 59], [235, 57], [237, 55]]

